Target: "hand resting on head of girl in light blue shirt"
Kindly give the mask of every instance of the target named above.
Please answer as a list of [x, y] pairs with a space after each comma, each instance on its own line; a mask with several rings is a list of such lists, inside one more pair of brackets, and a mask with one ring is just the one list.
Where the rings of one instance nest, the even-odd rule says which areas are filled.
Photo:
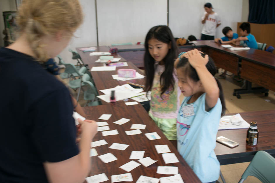
[[188, 58], [188, 62], [194, 68], [205, 66], [208, 63], [208, 55], [202, 57], [201, 52], [197, 49], [188, 51], [184, 57]]

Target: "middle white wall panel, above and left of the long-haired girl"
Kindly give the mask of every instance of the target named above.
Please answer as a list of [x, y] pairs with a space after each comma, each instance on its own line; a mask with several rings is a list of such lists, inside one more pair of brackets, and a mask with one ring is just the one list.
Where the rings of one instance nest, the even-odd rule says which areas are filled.
[[144, 42], [149, 29], [167, 25], [167, 0], [97, 0], [99, 46]]

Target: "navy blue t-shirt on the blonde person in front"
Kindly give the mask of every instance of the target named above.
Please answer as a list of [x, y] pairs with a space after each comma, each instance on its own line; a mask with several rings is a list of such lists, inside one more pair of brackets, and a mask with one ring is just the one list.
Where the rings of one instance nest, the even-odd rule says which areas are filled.
[[0, 182], [48, 182], [43, 162], [79, 153], [71, 96], [32, 57], [0, 49]]

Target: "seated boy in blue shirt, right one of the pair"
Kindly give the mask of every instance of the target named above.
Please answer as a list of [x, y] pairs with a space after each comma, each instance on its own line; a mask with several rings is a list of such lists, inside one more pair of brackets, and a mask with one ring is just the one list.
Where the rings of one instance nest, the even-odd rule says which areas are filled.
[[241, 37], [238, 37], [238, 39], [233, 40], [233, 44], [240, 45], [240, 41], [243, 41], [243, 46], [248, 46], [249, 48], [258, 49], [257, 41], [255, 37], [250, 34], [250, 23], [249, 22], [243, 22], [240, 27], [240, 34]]

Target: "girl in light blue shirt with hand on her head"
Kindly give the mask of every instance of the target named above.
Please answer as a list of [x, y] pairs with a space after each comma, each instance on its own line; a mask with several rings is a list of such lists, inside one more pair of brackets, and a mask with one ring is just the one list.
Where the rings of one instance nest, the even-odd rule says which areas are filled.
[[202, 182], [216, 182], [220, 164], [214, 152], [219, 119], [225, 113], [221, 84], [212, 58], [197, 49], [175, 62], [185, 96], [177, 118], [178, 151]]

